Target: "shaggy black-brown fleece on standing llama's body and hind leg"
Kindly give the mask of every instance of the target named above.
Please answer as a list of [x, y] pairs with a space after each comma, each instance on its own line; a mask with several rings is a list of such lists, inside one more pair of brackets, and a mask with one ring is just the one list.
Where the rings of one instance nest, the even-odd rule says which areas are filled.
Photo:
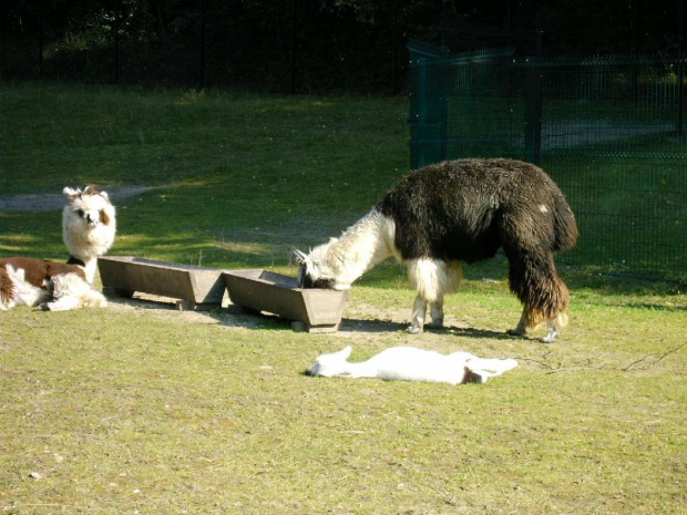
[[403, 178], [377, 209], [394, 220], [403, 259], [474, 262], [503, 248], [527, 326], [567, 311], [553, 253], [575, 246], [577, 224], [561, 189], [537, 166], [510, 159], [430, 165]]

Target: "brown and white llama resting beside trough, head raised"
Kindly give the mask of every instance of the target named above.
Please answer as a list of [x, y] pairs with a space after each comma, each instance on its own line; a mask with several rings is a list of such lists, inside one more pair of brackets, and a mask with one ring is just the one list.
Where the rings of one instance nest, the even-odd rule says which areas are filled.
[[38, 306], [43, 310], [66, 311], [83, 307], [105, 307], [103, 295], [91, 284], [98, 257], [104, 255], [116, 231], [115, 209], [105, 192], [93, 186], [65, 187], [62, 237], [69, 260], [10, 257], [0, 259], [0, 310], [14, 306]]

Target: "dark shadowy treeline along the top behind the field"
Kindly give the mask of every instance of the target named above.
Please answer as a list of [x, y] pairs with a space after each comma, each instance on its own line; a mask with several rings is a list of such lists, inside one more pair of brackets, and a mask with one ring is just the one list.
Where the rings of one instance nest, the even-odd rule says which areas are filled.
[[409, 40], [551, 55], [681, 51], [685, 0], [4, 0], [0, 80], [398, 93]]

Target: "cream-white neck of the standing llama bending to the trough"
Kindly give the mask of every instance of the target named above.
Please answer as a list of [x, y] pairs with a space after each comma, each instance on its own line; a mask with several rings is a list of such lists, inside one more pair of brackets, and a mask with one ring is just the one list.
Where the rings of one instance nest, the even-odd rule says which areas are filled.
[[373, 209], [349, 227], [339, 239], [322, 246], [325, 256], [318, 256], [316, 261], [329, 268], [339, 289], [347, 288], [366, 271], [393, 255], [394, 235], [393, 220]]

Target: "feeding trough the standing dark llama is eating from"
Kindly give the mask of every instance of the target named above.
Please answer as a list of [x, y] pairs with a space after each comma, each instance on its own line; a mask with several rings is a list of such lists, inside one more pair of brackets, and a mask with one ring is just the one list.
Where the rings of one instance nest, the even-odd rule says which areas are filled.
[[229, 270], [224, 282], [233, 303], [293, 320], [295, 330], [335, 332], [348, 291], [298, 288], [298, 279], [263, 269]]

